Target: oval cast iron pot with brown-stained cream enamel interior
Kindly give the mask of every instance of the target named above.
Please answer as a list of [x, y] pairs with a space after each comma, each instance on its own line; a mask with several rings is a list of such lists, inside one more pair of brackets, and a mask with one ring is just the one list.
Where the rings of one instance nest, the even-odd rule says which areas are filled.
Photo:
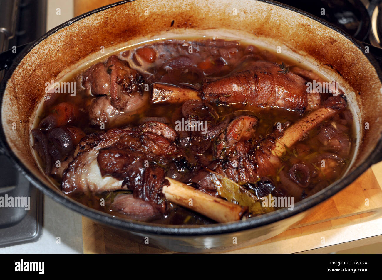
[[[208, 226], [161, 226], [111, 215], [66, 197], [44, 176], [32, 151], [31, 127], [44, 98], [44, 84], [126, 45], [182, 36], [245, 38], [303, 61], [340, 83], [354, 112], [357, 142], [346, 174], [324, 190], [256, 218]], [[105, 53], [100, 50], [104, 48]], [[125, 230], [144, 244], [167, 250], [232, 250], [293, 227], [314, 206], [348, 186], [379, 161], [382, 141], [381, 72], [371, 49], [327, 22], [272, 1], [123, 1], [78, 16], [39, 38], [8, 69], [1, 87], [1, 142], [5, 154], [45, 195], [95, 221]], [[368, 124], [368, 129], [365, 123]], [[16, 129], [15, 128], [16, 124]], [[364, 198], [359, 198], [364, 203]], [[378, 216], [378, 213], [370, 218]], [[236, 237], [237, 243], [233, 240]], [[147, 239], [147, 238], [146, 238]]]

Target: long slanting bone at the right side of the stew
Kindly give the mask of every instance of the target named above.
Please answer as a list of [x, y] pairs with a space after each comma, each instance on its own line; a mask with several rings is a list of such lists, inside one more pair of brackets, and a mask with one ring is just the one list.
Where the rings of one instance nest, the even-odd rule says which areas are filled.
[[288, 127], [283, 136], [277, 139], [276, 146], [272, 149], [272, 154], [280, 157], [286, 151], [286, 148], [293, 146], [299, 139], [303, 138], [304, 134], [337, 112], [338, 110], [336, 109], [321, 107], [312, 111], [306, 117], [301, 118], [298, 122]]

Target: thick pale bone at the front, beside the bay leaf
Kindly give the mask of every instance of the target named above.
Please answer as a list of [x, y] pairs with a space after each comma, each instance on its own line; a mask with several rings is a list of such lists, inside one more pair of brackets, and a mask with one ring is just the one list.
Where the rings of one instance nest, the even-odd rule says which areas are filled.
[[162, 192], [170, 202], [191, 209], [217, 222], [238, 221], [244, 213], [243, 208], [237, 204], [213, 197], [174, 179], [168, 177], [166, 179], [170, 185], [164, 186]]

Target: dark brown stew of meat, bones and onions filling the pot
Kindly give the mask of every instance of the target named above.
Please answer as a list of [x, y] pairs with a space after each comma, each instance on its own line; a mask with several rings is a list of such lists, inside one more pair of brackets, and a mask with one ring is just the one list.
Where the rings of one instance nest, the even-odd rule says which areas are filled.
[[135, 45], [46, 92], [32, 130], [45, 174], [74, 200], [139, 221], [292, 208], [342, 176], [355, 141], [337, 83], [241, 41]]

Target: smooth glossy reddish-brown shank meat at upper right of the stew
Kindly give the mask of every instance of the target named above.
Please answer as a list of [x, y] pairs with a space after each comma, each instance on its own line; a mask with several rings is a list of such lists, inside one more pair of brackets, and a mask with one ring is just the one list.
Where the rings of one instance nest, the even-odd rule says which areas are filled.
[[254, 104], [303, 114], [308, 106], [305, 80], [268, 61], [254, 61], [223, 78], [206, 78], [202, 94], [215, 104]]

